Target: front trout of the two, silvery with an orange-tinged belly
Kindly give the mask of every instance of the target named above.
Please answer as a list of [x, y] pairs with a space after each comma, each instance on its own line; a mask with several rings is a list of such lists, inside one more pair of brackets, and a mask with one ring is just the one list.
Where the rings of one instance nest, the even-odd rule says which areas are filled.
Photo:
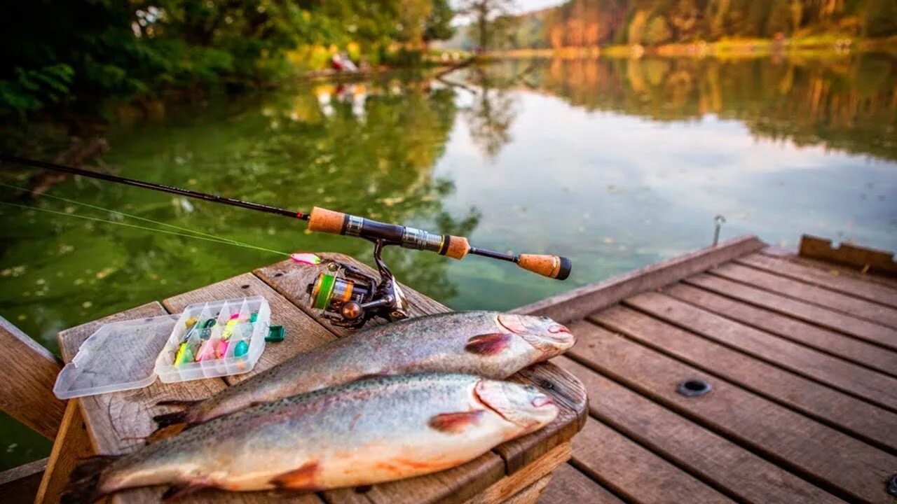
[[125, 456], [91, 459], [63, 502], [170, 485], [165, 499], [226, 491], [323, 491], [464, 464], [557, 416], [538, 388], [471, 375], [368, 378], [259, 404]]

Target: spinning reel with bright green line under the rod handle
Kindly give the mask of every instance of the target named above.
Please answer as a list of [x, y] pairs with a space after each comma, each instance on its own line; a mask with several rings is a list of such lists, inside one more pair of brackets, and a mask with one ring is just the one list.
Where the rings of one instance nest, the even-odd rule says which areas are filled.
[[379, 280], [353, 265], [327, 261], [326, 271], [309, 283], [311, 307], [334, 326], [357, 329], [374, 317], [395, 322], [408, 317], [408, 301], [380, 256], [389, 245], [383, 239], [374, 242], [374, 263]]

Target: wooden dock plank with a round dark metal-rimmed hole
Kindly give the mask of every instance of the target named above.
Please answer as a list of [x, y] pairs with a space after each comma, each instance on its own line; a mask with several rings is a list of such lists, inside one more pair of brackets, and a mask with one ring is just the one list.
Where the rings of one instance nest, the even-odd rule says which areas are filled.
[[[579, 363], [775, 460], [837, 497], [893, 502], [884, 482], [897, 467], [897, 457], [589, 322], [570, 329], [579, 343], [568, 355]], [[705, 380], [712, 389], [700, 397], [680, 395], [676, 387], [684, 379]], [[892, 423], [892, 431], [895, 428]], [[582, 438], [580, 434], [573, 441], [574, 460]]]

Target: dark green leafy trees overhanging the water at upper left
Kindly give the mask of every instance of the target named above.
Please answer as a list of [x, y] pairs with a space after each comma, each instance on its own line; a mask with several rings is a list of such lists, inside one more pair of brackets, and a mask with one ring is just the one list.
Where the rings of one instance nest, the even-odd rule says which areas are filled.
[[376, 62], [396, 40], [450, 37], [451, 16], [447, 0], [22, 2], [0, 17], [0, 118], [253, 87], [294, 72], [287, 53], [302, 48]]

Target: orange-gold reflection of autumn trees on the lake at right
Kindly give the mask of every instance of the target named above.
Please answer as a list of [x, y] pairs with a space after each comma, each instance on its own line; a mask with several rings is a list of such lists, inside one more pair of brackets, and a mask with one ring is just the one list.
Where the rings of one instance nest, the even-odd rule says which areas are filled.
[[510, 61], [540, 91], [588, 110], [658, 121], [713, 114], [753, 135], [897, 159], [897, 60], [695, 58]]

